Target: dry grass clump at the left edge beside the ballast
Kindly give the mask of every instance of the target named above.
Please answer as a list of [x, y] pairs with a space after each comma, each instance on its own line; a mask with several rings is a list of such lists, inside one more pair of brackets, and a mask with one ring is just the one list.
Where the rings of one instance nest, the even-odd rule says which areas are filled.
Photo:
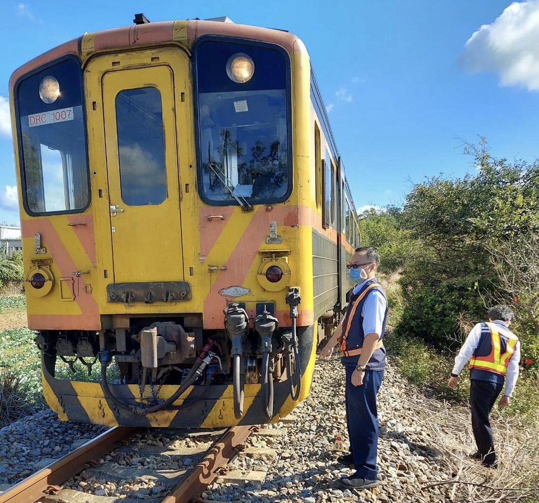
[[32, 414], [32, 384], [16, 368], [0, 369], [0, 428]]

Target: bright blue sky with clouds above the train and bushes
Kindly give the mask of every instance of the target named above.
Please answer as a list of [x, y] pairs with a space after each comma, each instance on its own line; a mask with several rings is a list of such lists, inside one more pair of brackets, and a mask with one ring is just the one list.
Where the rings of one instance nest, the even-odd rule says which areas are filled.
[[227, 15], [236, 23], [300, 36], [358, 208], [402, 202], [411, 182], [424, 176], [473, 171], [457, 137], [476, 141], [480, 134], [493, 155], [533, 161], [539, 139], [539, 1], [510, 4], [274, 0], [269, 8], [238, 0], [4, 0], [0, 222], [18, 221], [5, 108], [12, 71], [86, 31], [129, 25], [135, 12], [153, 21]]

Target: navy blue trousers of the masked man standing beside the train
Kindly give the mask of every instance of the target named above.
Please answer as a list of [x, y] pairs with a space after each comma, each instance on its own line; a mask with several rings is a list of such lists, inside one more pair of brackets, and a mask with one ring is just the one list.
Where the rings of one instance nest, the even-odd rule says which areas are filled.
[[363, 384], [354, 386], [351, 381], [354, 367], [346, 369], [346, 423], [350, 452], [354, 458], [357, 476], [367, 480], [378, 478], [378, 411], [376, 395], [384, 377], [383, 370], [367, 370]]

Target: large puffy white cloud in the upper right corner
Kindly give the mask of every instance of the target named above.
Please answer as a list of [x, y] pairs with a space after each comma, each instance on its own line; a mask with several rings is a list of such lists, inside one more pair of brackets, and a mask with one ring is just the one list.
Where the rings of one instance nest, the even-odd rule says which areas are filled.
[[502, 86], [539, 90], [539, 0], [514, 2], [467, 40], [461, 58], [471, 72], [495, 72]]

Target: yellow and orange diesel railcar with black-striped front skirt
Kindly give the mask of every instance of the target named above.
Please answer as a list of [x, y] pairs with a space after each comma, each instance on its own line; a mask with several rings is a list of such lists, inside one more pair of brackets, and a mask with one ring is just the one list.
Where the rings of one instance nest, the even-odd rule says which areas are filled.
[[134, 21], [10, 81], [45, 398], [106, 425], [277, 421], [360, 242], [307, 51], [227, 18]]

